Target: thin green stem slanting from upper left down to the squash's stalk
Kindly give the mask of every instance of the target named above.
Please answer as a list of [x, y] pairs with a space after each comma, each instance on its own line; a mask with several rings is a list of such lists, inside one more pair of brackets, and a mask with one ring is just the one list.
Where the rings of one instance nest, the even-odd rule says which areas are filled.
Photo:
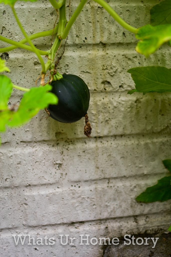
[[45, 69], [45, 63], [43, 61], [43, 58], [41, 57], [40, 53], [38, 52], [38, 49], [34, 46], [34, 44], [32, 43], [31, 39], [29, 38], [29, 36], [27, 35], [27, 33], [25, 32], [20, 20], [18, 19], [18, 16], [15, 12], [15, 9], [14, 9], [14, 6], [11, 7], [12, 8], [12, 11], [13, 11], [13, 14], [14, 14], [14, 17], [16, 19], [16, 22], [19, 26], [19, 28], [21, 29], [23, 35], [25, 36], [25, 38], [27, 39], [27, 42], [30, 44], [31, 48], [33, 49], [33, 51], [35, 52], [35, 54], [37, 55], [41, 65], [42, 65], [42, 73], [46, 73], [46, 69]]

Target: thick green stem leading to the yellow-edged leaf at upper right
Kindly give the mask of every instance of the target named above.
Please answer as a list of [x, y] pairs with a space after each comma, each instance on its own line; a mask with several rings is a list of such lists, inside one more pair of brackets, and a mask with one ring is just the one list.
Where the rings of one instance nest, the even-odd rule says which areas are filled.
[[104, 0], [93, 1], [101, 5], [122, 27], [129, 30], [130, 32], [133, 32], [134, 34], [137, 33], [138, 29], [126, 23]]

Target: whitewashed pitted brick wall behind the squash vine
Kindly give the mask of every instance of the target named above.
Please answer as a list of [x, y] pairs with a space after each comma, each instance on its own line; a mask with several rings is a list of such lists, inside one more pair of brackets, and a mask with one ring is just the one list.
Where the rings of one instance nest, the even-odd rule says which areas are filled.
[[[78, 2], [71, 1], [72, 11]], [[115, 0], [109, 4], [139, 27], [149, 22], [149, 8], [158, 2]], [[55, 12], [48, 1], [21, 2], [16, 7], [29, 34], [53, 27]], [[20, 40], [10, 8], [1, 4], [0, 17], [5, 27], [2, 35]], [[51, 37], [34, 42], [46, 49]], [[45, 119], [43, 110], [25, 126], [2, 135], [2, 257], [102, 257], [103, 246], [80, 246], [78, 240], [74, 246], [62, 246], [59, 234], [77, 239], [79, 234], [119, 237], [168, 227], [170, 201], [139, 204], [135, 197], [168, 174], [162, 160], [171, 157], [171, 97], [127, 95], [134, 88], [127, 70], [145, 65], [170, 68], [170, 49], [166, 45], [146, 60], [136, 53], [135, 45], [132, 33], [96, 3], [88, 2], [69, 34], [59, 70], [81, 76], [89, 86], [92, 138], [83, 134], [84, 119], [58, 123]], [[9, 52], [12, 81], [34, 86], [40, 71], [36, 61], [34, 54], [25, 50]], [[21, 96], [14, 90], [10, 102]], [[12, 234], [47, 235], [55, 237], [56, 243], [15, 246]]]

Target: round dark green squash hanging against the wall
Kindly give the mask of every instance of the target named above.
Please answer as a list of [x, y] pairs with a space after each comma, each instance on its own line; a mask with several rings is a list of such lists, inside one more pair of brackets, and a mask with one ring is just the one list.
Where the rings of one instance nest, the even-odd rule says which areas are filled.
[[84, 117], [88, 111], [90, 92], [84, 80], [72, 74], [53, 81], [52, 93], [58, 97], [57, 105], [49, 105], [50, 116], [59, 122], [72, 123]]

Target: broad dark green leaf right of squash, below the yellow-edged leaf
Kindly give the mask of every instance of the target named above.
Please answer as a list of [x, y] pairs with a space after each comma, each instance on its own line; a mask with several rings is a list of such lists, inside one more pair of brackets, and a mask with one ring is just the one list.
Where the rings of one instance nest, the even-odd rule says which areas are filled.
[[136, 67], [129, 69], [137, 91], [146, 94], [148, 92], [171, 92], [171, 69], [160, 66]]

